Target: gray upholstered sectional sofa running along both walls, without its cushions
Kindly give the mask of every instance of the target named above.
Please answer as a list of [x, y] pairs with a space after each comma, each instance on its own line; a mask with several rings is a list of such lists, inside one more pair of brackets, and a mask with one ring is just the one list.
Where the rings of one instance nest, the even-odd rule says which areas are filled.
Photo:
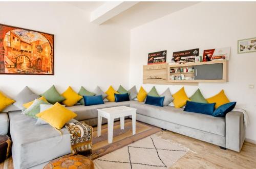
[[[75, 119], [86, 120], [89, 125], [96, 126], [97, 109], [114, 106], [137, 108], [136, 118], [141, 122], [230, 150], [239, 152], [245, 139], [241, 112], [231, 111], [225, 118], [213, 117], [184, 112], [183, 109], [172, 106], [157, 107], [137, 101], [105, 102], [103, 105], [93, 106], [76, 105], [68, 109], [77, 114]], [[8, 114], [15, 169], [43, 168], [49, 161], [70, 153], [70, 136], [66, 128], [61, 129], [62, 136], [60, 136], [59, 132], [50, 125], [35, 126], [36, 119], [21, 114], [21, 111], [12, 111]], [[102, 123], [106, 123], [106, 119], [102, 119]]]

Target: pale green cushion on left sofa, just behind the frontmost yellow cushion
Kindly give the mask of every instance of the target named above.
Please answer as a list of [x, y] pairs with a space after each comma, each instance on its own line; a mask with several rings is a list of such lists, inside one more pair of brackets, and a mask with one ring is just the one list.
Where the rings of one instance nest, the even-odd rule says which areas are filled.
[[29, 106], [26, 110], [22, 112], [22, 114], [28, 115], [33, 118], [38, 118], [35, 115], [40, 112], [40, 105], [41, 104], [47, 104], [50, 105], [50, 103], [47, 103], [43, 100], [36, 99], [31, 106]]

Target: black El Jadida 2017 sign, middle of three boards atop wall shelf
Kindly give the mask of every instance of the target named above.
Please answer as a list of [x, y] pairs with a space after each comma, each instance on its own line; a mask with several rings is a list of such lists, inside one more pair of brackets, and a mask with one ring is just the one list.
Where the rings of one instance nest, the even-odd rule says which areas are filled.
[[196, 56], [199, 56], [199, 49], [179, 51], [173, 53], [175, 62], [195, 62]]

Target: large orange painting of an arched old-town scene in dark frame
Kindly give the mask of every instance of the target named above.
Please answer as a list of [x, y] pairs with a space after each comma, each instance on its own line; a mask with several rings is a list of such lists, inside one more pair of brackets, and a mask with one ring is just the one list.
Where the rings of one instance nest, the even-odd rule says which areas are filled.
[[0, 74], [54, 75], [54, 35], [0, 24]]

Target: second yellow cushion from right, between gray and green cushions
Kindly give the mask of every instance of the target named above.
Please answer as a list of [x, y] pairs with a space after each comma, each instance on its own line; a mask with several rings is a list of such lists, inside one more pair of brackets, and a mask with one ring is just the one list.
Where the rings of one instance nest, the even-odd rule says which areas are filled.
[[184, 87], [177, 91], [174, 95], [174, 107], [181, 108], [186, 105], [187, 101], [190, 99], [187, 97]]

